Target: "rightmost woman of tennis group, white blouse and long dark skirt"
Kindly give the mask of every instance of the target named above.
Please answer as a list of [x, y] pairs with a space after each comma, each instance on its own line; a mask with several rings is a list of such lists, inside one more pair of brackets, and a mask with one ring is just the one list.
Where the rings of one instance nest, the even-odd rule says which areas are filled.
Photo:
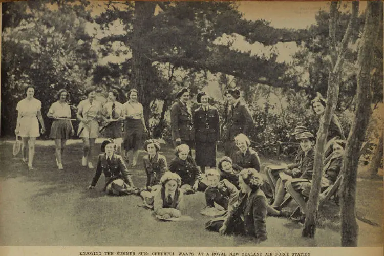
[[[139, 147], [142, 145], [143, 134], [148, 134], [145, 126], [143, 105], [137, 102], [138, 91], [128, 92], [128, 101], [123, 104], [124, 150], [125, 154], [132, 150], [132, 166], [136, 167]], [[125, 155], [124, 154], [124, 155]], [[128, 156], [125, 155], [125, 160]]]

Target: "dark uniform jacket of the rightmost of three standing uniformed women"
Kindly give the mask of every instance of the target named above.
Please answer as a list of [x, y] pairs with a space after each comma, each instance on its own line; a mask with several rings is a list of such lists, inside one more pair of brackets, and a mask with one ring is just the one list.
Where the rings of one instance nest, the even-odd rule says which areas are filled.
[[234, 140], [234, 137], [240, 133], [248, 135], [253, 125], [254, 120], [247, 106], [239, 101], [234, 105], [233, 109], [229, 108], [225, 138], [227, 140]]

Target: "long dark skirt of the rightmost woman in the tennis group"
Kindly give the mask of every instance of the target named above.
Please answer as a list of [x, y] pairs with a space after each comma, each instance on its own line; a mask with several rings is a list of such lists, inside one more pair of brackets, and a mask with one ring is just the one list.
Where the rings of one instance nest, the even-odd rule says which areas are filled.
[[124, 149], [138, 150], [142, 146], [143, 124], [141, 120], [125, 119], [124, 122]]

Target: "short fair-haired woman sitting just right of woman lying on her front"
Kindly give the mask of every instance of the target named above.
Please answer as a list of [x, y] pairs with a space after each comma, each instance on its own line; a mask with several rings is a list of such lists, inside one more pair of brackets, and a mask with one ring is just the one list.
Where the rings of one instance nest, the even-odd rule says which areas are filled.
[[205, 176], [208, 183], [204, 191], [207, 208], [214, 208], [216, 203], [218, 210], [231, 209], [239, 196], [239, 190], [226, 179], [219, 181], [217, 169], [206, 170]]

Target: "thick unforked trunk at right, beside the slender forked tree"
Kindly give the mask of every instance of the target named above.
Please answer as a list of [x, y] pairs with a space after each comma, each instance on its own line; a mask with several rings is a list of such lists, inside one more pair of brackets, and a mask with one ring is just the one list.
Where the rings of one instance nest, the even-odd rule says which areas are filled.
[[360, 48], [358, 52], [357, 101], [356, 114], [349, 132], [346, 153], [344, 155], [343, 182], [341, 195], [342, 246], [357, 246], [358, 225], [356, 222], [356, 178], [359, 151], [365, 139], [366, 129], [371, 116], [372, 86], [371, 67], [372, 47], [377, 37], [381, 2], [369, 1]]

